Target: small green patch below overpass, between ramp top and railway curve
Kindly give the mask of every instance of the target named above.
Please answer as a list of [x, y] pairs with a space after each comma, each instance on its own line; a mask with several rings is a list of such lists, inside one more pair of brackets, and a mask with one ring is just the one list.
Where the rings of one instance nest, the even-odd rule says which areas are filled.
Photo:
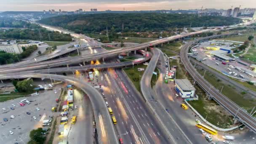
[[177, 53], [179, 53], [181, 46], [182, 42], [170, 43], [163, 45], [160, 50], [163, 51], [163, 53], [165, 53], [167, 56], [176, 56], [177, 54], [173, 53], [172, 51], [176, 51]]

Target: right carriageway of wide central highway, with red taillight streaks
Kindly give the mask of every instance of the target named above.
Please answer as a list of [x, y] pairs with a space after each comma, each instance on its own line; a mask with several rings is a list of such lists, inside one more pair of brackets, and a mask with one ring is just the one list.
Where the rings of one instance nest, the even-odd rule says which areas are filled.
[[128, 77], [120, 69], [116, 69], [115, 72], [117, 77], [112, 76], [115, 81], [114, 83], [119, 85], [123, 98], [132, 110], [142, 133], [144, 133], [145, 139], [148, 139], [150, 144], [170, 144], [171, 141], [168, 139], [168, 136], [165, 135], [155, 116], [149, 111], [142, 96], [133, 87]]

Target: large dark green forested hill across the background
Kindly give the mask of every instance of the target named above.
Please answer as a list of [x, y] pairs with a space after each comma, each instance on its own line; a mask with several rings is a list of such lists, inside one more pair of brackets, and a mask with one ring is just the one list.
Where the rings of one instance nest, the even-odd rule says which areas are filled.
[[212, 27], [238, 24], [240, 19], [222, 16], [197, 16], [171, 13], [99, 13], [63, 15], [41, 19], [38, 22], [77, 33], [161, 31], [168, 28]]

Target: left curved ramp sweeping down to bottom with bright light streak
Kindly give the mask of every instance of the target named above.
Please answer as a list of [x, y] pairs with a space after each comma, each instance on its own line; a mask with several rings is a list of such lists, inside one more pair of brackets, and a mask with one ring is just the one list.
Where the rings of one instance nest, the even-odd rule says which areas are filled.
[[97, 133], [98, 133], [98, 141], [101, 144], [118, 144], [117, 135], [112, 124], [112, 120], [110, 118], [109, 112], [107, 110], [107, 106], [105, 104], [104, 99], [101, 94], [93, 88], [88, 83], [85, 83], [82, 80], [78, 80], [73, 77], [66, 77], [63, 75], [47, 75], [47, 74], [31, 74], [27, 73], [25, 75], [0, 75], [1, 79], [11, 79], [11, 78], [47, 78], [56, 79], [61, 81], [67, 81], [69, 83], [73, 83], [75, 86], [81, 88], [85, 93], [88, 94], [91, 104], [93, 106], [93, 112], [96, 121]]

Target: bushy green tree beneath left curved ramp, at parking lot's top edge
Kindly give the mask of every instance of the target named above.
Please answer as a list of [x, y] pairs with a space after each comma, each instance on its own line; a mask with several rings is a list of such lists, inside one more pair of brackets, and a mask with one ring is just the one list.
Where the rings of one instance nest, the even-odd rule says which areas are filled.
[[16, 89], [19, 91], [19, 92], [32, 92], [34, 91], [34, 88], [33, 88], [33, 80], [22, 80], [22, 81], [19, 81], [17, 84], [16, 84]]

